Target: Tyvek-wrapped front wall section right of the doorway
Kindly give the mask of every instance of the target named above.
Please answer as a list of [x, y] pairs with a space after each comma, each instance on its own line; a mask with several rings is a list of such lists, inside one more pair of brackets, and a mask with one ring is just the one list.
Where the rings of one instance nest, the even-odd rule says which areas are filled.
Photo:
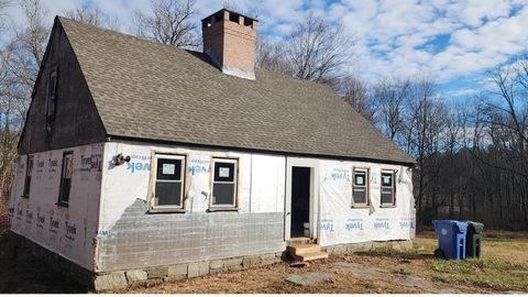
[[[370, 206], [352, 207], [352, 168], [370, 169]], [[381, 174], [395, 170], [396, 205], [381, 206]], [[319, 243], [322, 246], [370, 241], [410, 240], [416, 230], [411, 169], [364, 162], [319, 163]]]

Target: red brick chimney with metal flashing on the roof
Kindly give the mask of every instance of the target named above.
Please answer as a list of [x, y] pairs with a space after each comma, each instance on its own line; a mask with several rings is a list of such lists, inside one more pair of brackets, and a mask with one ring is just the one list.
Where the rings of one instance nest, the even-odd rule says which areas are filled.
[[204, 53], [224, 74], [255, 79], [257, 21], [222, 9], [201, 20]]

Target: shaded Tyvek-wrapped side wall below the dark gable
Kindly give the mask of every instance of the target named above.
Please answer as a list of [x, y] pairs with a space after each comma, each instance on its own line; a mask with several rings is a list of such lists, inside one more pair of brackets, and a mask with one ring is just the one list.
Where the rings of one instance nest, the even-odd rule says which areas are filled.
[[[16, 161], [9, 211], [11, 231], [94, 271], [103, 144], [33, 154], [29, 198], [23, 198], [26, 155]], [[74, 152], [69, 206], [57, 206], [63, 152]]]

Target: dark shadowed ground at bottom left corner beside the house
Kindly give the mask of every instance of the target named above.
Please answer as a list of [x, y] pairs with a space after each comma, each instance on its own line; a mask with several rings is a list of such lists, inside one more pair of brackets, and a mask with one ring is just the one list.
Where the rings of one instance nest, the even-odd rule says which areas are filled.
[[[4, 231], [4, 230], [2, 230]], [[0, 293], [88, 293], [75, 280], [50, 270], [44, 261], [28, 253], [9, 251], [9, 232], [0, 233]], [[67, 274], [68, 272], [65, 272]]]

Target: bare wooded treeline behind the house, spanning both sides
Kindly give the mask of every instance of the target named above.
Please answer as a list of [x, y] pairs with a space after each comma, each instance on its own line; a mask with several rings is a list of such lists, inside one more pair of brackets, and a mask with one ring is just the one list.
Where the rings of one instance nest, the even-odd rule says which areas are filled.
[[[9, 6], [22, 9], [26, 19], [23, 25], [9, 22]], [[119, 20], [92, 6], [63, 14], [94, 25], [119, 28]], [[195, 14], [194, 0], [151, 0], [151, 11], [133, 12], [130, 30], [143, 38], [199, 48]], [[0, 0], [3, 202], [51, 18], [41, 0]], [[366, 82], [348, 73], [354, 43], [341, 24], [310, 14], [285, 41], [274, 42], [260, 34], [256, 66], [330, 85], [342, 100], [414, 156], [419, 223], [453, 218], [482, 221], [487, 228], [528, 230], [528, 55], [490, 70], [486, 87], [477, 96], [455, 103], [460, 98], [452, 100], [441, 94], [427, 74]]]

